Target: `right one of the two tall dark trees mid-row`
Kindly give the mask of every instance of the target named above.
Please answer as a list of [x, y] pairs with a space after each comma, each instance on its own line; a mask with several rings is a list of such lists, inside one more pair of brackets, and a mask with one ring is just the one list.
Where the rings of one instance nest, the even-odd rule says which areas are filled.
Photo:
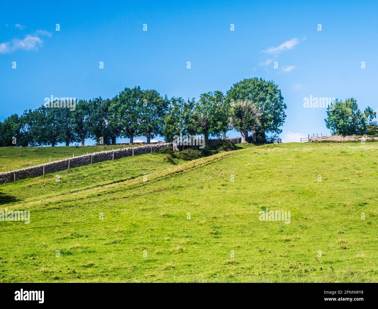
[[147, 143], [150, 143], [151, 138], [163, 134], [164, 115], [169, 100], [167, 97], [161, 97], [154, 89], [144, 90], [141, 100], [139, 134], [146, 136]]

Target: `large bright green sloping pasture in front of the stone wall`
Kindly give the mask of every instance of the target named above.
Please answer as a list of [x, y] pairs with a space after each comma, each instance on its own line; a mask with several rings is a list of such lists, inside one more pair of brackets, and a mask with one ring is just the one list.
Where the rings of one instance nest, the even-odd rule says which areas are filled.
[[0, 282], [378, 281], [377, 143], [243, 148], [1, 185]]

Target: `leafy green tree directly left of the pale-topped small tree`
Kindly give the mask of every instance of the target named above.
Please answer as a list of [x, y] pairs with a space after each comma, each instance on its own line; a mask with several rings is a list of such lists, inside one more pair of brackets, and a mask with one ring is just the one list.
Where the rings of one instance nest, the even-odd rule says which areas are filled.
[[208, 92], [200, 95], [195, 106], [199, 132], [203, 134], [205, 143], [209, 135], [219, 135], [227, 128], [227, 111], [225, 96], [221, 91]]

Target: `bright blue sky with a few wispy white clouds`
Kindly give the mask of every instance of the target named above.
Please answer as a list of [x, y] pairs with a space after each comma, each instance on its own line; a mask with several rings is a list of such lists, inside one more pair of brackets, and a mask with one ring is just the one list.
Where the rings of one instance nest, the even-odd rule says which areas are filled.
[[198, 98], [263, 77], [287, 104], [283, 141], [329, 134], [325, 108], [303, 100], [355, 97], [377, 111], [377, 12], [373, 1], [2, 3], [0, 119], [51, 95], [111, 98], [139, 85]]

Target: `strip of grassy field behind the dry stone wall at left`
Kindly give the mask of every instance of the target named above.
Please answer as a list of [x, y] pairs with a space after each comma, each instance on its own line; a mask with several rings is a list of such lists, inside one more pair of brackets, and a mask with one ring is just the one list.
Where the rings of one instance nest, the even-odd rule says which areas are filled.
[[[75, 157], [112, 149], [120, 149], [131, 146], [85, 146], [76, 148], [74, 146], [69, 147], [0, 147], [0, 172], [8, 172], [20, 168], [27, 168], [30, 163], [34, 165], [43, 164], [62, 160], [65, 158], [71, 158], [74, 154]], [[134, 146], [136, 147], [136, 146]]]

